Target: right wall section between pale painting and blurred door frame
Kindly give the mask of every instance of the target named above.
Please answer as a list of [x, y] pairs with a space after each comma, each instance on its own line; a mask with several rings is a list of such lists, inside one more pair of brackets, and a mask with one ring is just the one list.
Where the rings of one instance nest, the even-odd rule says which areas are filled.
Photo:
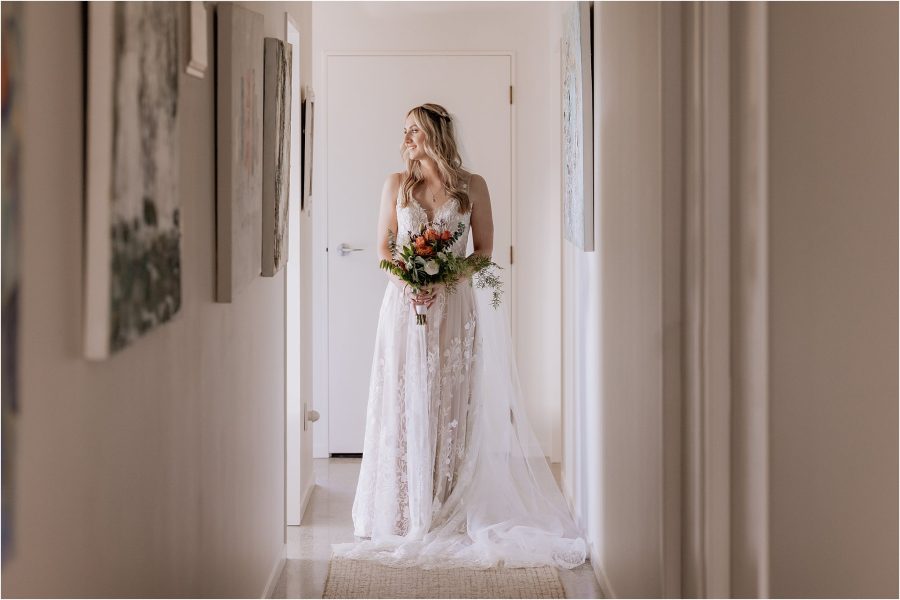
[[663, 168], [672, 98], [660, 31], [668, 21], [658, 3], [596, 2], [594, 10], [598, 243], [584, 253], [563, 242], [565, 487], [607, 593], [660, 597], [673, 564], [664, 490], [664, 347], [674, 333], [664, 320], [673, 282], [665, 206], [679, 189]]

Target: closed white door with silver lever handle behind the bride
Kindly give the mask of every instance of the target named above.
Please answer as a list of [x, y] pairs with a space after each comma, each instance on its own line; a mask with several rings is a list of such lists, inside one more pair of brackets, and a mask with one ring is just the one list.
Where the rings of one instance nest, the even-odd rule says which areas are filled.
[[[328, 449], [363, 448], [378, 311], [381, 188], [404, 169], [406, 111], [435, 102], [454, 117], [463, 168], [482, 175], [494, 213], [494, 259], [510, 279], [511, 58], [508, 55], [329, 55], [326, 63], [328, 207]], [[340, 252], [341, 245], [359, 249]], [[512, 300], [511, 282], [505, 302]]]

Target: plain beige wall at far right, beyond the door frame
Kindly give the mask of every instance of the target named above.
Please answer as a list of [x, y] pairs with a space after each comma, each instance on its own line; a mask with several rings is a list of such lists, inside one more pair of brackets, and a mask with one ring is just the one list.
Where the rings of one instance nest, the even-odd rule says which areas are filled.
[[897, 5], [769, 4], [771, 594], [897, 595]]

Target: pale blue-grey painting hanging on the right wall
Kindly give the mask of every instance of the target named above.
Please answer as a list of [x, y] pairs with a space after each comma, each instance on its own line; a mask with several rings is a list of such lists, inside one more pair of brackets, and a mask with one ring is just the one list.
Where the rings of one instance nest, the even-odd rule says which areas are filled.
[[562, 39], [563, 234], [594, 249], [592, 3], [572, 2]]

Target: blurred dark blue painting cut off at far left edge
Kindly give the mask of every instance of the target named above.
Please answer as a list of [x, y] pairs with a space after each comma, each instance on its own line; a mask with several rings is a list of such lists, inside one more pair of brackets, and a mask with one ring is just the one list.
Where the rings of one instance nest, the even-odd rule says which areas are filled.
[[13, 555], [16, 418], [19, 412], [19, 240], [22, 154], [22, 4], [3, 5], [3, 563]]

